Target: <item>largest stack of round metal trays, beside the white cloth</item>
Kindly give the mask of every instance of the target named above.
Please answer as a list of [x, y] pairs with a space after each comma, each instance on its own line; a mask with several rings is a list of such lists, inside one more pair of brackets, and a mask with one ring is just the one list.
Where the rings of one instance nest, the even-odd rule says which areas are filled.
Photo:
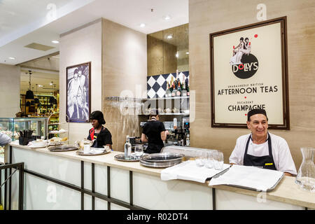
[[185, 155], [179, 153], [153, 153], [143, 155], [140, 164], [146, 167], [166, 168], [181, 163]]

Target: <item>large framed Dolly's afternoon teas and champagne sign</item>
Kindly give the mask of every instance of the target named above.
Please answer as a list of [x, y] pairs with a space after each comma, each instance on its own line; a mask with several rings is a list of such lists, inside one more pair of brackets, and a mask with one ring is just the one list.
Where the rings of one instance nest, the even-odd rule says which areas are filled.
[[290, 130], [286, 46], [286, 17], [210, 34], [211, 127], [265, 109], [270, 129]]

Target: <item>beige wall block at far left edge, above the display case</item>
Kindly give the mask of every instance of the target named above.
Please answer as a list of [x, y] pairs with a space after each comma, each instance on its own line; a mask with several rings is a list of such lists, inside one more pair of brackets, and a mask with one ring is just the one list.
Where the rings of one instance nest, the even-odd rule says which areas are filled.
[[0, 118], [20, 111], [20, 66], [0, 64]]

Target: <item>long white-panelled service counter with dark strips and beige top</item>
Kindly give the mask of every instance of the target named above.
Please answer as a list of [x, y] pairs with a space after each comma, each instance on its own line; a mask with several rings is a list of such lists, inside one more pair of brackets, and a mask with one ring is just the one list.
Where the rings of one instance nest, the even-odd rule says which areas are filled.
[[[121, 152], [82, 156], [50, 152], [15, 142], [7, 162], [25, 163], [24, 209], [315, 209], [315, 194], [284, 176], [268, 193], [208, 182], [162, 181], [162, 169], [114, 159]], [[18, 171], [17, 171], [18, 172]], [[12, 180], [12, 207], [18, 207], [18, 175]]]

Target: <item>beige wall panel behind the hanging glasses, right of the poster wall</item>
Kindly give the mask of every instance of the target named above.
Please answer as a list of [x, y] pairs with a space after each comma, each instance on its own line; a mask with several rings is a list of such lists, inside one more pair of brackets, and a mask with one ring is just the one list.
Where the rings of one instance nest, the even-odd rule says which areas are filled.
[[123, 151], [126, 135], [134, 136], [132, 121], [137, 116], [125, 117], [128, 123], [123, 125], [120, 111], [109, 109], [105, 97], [125, 97], [126, 94], [129, 97], [146, 97], [146, 34], [109, 20], [103, 19], [102, 22], [105, 126], [112, 134], [113, 149]]

